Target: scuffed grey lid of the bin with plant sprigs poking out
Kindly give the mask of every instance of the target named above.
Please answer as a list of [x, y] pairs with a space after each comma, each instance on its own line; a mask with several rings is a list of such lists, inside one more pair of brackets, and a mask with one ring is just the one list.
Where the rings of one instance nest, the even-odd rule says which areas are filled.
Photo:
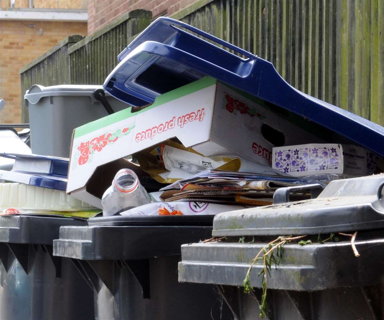
[[315, 235], [384, 228], [384, 174], [334, 180], [315, 199], [223, 212], [212, 235]]

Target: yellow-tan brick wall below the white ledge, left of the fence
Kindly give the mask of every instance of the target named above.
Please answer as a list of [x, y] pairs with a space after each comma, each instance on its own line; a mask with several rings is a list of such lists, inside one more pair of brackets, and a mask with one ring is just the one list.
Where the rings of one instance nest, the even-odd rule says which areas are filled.
[[[20, 123], [20, 68], [68, 35], [87, 35], [87, 24], [38, 21], [0, 23], [0, 99], [5, 100], [5, 108], [0, 111], [0, 123]], [[40, 29], [43, 30], [42, 35]]]

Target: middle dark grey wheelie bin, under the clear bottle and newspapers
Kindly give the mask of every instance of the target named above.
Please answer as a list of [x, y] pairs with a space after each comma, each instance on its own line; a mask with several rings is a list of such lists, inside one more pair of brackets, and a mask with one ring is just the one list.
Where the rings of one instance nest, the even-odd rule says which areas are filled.
[[88, 227], [61, 227], [53, 254], [76, 259], [94, 291], [96, 320], [228, 319], [214, 286], [177, 281], [181, 244], [212, 233], [212, 217], [199, 219], [96, 217]]

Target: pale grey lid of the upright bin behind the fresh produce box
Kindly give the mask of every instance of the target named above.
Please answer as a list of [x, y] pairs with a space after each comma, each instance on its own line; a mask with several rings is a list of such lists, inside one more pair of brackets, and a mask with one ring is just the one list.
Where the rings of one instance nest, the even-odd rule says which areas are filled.
[[[103, 86], [99, 85], [58, 85], [58, 86], [41, 86], [33, 85], [29, 90], [25, 92], [24, 99], [28, 100], [28, 103], [36, 104], [43, 97], [51, 96], [89, 96], [92, 102], [99, 102], [93, 96], [96, 89], [103, 89]], [[104, 90], [104, 89], [103, 89]], [[108, 92], [104, 91], [106, 96], [111, 96]]]

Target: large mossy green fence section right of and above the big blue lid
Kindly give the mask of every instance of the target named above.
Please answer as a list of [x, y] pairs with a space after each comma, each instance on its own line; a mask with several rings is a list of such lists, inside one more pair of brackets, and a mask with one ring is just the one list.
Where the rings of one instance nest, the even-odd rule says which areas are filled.
[[384, 125], [382, 0], [202, 0], [175, 14], [264, 58], [292, 86]]

